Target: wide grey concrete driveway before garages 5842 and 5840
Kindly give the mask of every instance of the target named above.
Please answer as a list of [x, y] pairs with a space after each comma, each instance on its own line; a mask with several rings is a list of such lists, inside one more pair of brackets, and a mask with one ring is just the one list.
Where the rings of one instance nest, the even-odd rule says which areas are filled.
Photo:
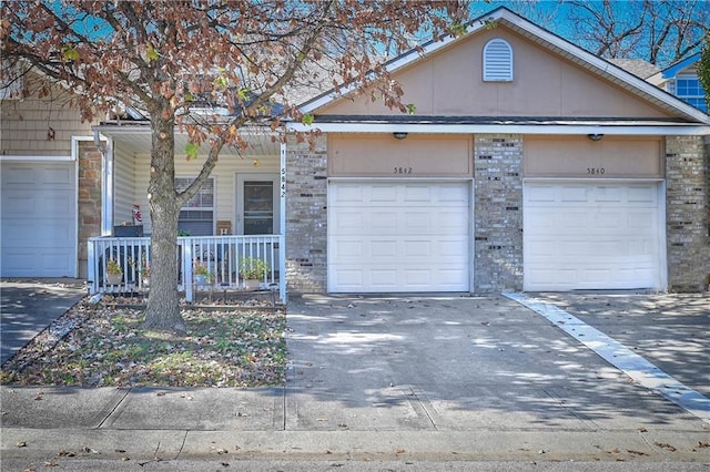
[[[549, 299], [584, 311], [590, 322], [599, 318], [592, 305], [606, 307], [602, 328], [626, 334], [623, 342], [648, 345], [643, 353], [668, 346], [653, 360], [707, 391], [710, 368], [700, 361], [710, 355], [706, 299], [676, 298], [681, 309], [693, 305], [678, 318], [682, 329], [659, 322], [670, 314], [641, 316], [648, 298], [619, 297], [612, 305], [602, 296]], [[629, 314], [628, 304], [638, 312], [610, 329]], [[286, 423], [294, 429], [708, 431], [708, 423], [503, 296], [304, 296], [290, 304], [288, 320]], [[674, 359], [667, 359], [671, 351]]]

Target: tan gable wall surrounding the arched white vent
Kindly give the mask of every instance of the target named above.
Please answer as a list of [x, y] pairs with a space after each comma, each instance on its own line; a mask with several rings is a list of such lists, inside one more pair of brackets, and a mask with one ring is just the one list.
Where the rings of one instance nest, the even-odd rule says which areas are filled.
[[[514, 81], [483, 81], [483, 48], [493, 38], [513, 47]], [[499, 25], [445, 48], [395, 78], [417, 115], [663, 117], [656, 109], [580, 66]], [[368, 96], [341, 100], [318, 114], [398, 114]]]

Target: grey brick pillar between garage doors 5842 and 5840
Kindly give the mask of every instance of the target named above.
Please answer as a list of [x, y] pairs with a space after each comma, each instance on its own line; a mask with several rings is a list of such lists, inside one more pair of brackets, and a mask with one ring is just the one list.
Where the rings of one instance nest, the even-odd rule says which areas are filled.
[[523, 289], [523, 136], [476, 135], [475, 293]]

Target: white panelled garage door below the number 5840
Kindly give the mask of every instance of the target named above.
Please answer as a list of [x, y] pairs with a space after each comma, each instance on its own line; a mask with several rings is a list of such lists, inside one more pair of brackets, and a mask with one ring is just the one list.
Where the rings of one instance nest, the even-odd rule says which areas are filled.
[[526, 290], [661, 288], [658, 183], [526, 183]]

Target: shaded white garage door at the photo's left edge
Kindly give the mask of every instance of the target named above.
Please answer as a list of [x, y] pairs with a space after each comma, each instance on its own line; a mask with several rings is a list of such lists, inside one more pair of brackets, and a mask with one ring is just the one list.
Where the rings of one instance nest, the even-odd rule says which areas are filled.
[[75, 163], [1, 164], [2, 277], [77, 276]]

